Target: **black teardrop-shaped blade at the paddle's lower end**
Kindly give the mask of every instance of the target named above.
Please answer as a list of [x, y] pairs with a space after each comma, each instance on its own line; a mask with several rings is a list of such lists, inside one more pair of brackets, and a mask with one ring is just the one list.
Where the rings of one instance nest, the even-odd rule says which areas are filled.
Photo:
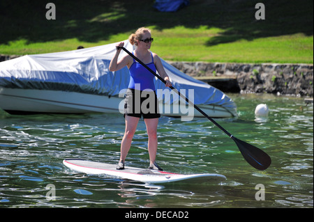
[[241, 141], [239, 138], [235, 138], [234, 136], [232, 136], [232, 139], [237, 144], [241, 154], [244, 159], [246, 159], [248, 164], [251, 164], [251, 166], [261, 171], [264, 171], [269, 167], [271, 164], [271, 158], [266, 152], [260, 150], [254, 145]]

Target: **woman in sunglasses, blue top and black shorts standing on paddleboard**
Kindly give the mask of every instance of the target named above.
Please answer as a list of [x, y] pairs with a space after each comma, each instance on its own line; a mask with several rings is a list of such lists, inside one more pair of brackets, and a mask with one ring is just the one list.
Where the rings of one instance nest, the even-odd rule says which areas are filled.
[[[146, 64], [154, 72], [158, 71], [160, 77], [165, 79], [165, 86], [172, 86], [170, 79], [165, 72], [160, 58], [157, 54], [149, 51], [151, 48], [151, 31], [147, 28], [140, 28], [130, 35], [128, 38], [132, 45], [135, 45], [135, 50], [133, 54], [140, 59], [144, 64]], [[156, 153], [157, 153], [157, 125], [158, 118], [160, 114], [158, 113], [158, 100], [155, 93], [154, 86], [154, 74], [151, 74], [143, 65], [137, 63], [134, 58], [130, 55], [126, 55], [118, 61], [118, 56], [121, 52], [124, 42], [117, 44], [117, 51], [110, 61], [109, 70], [117, 71], [125, 66], [130, 70], [130, 83], [128, 85], [128, 90], [126, 93], [126, 102], [124, 104], [124, 118], [126, 121], [126, 131], [124, 133], [124, 138], [121, 141], [121, 156], [119, 164], [117, 165], [118, 170], [124, 169], [125, 159], [130, 150], [130, 145], [132, 143], [133, 136], [137, 127], [137, 123], [140, 117], [143, 116], [145, 125], [147, 127], [147, 134], [149, 136], [148, 140], [148, 150], [149, 150], [149, 169], [162, 171], [162, 169], [156, 164]], [[148, 95], [147, 98], [143, 95]], [[144, 106], [145, 100], [149, 100], [149, 108]], [[137, 103], [140, 102], [140, 103]], [[145, 102], [147, 104], [147, 101]], [[143, 105], [143, 106], [142, 106]], [[143, 110], [145, 108], [145, 110]], [[139, 110], [140, 109], [140, 110]]]

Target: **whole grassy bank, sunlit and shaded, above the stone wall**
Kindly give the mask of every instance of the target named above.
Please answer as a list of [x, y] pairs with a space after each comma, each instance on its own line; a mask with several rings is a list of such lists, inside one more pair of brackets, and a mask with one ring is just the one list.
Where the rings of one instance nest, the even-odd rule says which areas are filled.
[[148, 26], [151, 50], [170, 61], [313, 63], [312, 0], [265, 0], [266, 19], [259, 21], [258, 0], [190, 0], [177, 13], [160, 13], [143, 0], [52, 2], [56, 20], [45, 19], [45, 1], [1, 1], [0, 54], [105, 45]]

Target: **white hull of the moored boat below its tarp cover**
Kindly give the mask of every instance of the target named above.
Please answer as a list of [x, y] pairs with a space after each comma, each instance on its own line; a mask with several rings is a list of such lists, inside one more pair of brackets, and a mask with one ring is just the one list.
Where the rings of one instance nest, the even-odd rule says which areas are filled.
[[[0, 109], [9, 113], [123, 113], [123, 100], [123, 97], [108, 97], [87, 93], [0, 87]], [[181, 109], [176, 106], [179, 105], [165, 105], [160, 102], [160, 114], [177, 117], [191, 114], [187, 111], [181, 112]], [[212, 118], [230, 118], [234, 116], [222, 106], [197, 106]], [[195, 109], [193, 109], [192, 114], [194, 117], [203, 117]]]

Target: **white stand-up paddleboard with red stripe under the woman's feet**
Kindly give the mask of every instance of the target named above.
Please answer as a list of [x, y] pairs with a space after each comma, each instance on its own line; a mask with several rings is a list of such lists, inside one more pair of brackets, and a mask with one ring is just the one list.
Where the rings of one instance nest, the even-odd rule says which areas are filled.
[[126, 166], [124, 170], [117, 170], [117, 165], [105, 164], [84, 159], [64, 159], [63, 164], [68, 168], [87, 174], [104, 174], [128, 180], [136, 180], [147, 183], [165, 183], [179, 180], [190, 182], [206, 182], [209, 180], [225, 180], [224, 175], [215, 173], [204, 174], [178, 174], [165, 171], [154, 171], [149, 169]]

